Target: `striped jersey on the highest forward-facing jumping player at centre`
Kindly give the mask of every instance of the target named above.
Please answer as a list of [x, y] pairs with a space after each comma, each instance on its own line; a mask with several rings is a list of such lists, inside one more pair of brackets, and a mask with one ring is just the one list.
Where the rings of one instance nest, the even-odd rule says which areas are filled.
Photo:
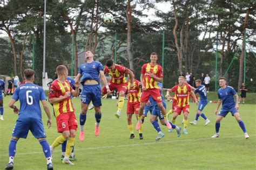
[[153, 73], [157, 77], [163, 77], [163, 68], [160, 65], [151, 65], [150, 63], [146, 63], [142, 66], [141, 73], [144, 74], [143, 83], [146, 89], [158, 89], [157, 81], [150, 77], [149, 73]]

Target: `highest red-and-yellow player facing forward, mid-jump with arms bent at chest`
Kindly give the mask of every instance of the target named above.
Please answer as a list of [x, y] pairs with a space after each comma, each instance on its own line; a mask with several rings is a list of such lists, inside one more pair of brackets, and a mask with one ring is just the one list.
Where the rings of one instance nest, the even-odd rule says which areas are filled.
[[157, 64], [157, 53], [150, 54], [150, 63], [146, 63], [142, 66], [142, 71], [140, 74], [140, 82], [142, 83], [142, 96], [140, 97], [140, 108], [138, 111], [138, 123], [136, 125], [136, 130], [140, 129], [140, 126], [143, 124], [142, 115], [143, 109], [149, 101], [149, 97], [152, 96], [153, 100], [157, 102], [161, 113], [164, 116], [165, 124], [168, 129], [172, 129], [171, 124], [168, 121], [168, 117], [166, 115], [166, 110], [164, 108], [161, 94], [159, 88], [157, 86], [157, 82], [163, 81], [163, 68]]

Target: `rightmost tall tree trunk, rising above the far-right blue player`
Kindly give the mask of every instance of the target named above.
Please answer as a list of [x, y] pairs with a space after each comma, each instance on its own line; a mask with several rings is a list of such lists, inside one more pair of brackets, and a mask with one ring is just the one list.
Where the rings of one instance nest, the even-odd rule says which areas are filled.
[[[250, 10], [247, 9], [246, 11], [246, 15], [245, 15], [245, 20], [244, 20], [244, 25], [242, 26], [242, 30], [241, 33], [244, 33], [247, 24], [248, 24], [248, 18], [249, 18], [249, 13]], [[245, 38], [246, 34], [244, 34], [244, 38]], [[240, 61], [239, 61], [239, 78], [238, 78], [238, 89], [240, 89], [241, 85], [242, 85], [242, 78], [243, 78], [243, 73], [244, 73], [244, 49], [245, 49], [245, 41], [243, 39], [242, 41], [242, 50], [241, 50], [241, 55], [240, 55]]]

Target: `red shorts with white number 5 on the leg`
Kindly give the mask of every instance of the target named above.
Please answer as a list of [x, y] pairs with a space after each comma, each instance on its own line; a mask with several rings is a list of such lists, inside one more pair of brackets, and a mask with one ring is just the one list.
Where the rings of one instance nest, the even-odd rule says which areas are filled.
[[57, 130], [59, 133], [70, 131], [71, 129], [77, 130], [77, 119], [75, 112], [67, 112], [60, 114], [56, 117]]

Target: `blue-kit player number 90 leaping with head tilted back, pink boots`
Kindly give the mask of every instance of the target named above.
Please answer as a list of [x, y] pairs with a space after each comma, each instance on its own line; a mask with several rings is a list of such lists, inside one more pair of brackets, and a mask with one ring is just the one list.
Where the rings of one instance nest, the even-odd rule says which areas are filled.
[[[84, 124], [86, 122], [86, 113], [89, 107], [90, 102], [95, 105], [95, 136], [99, 135], [99, 123], [102, 118], [102, 111], [100, 106], [102, 105], [102, 96], [99, 86], [99, 77], [102, 79], [106, 93], [110, 93], [110, 87], [107, 85], [107, 80], [104, 75], [104, 70], [102, 63], [93, 60], [94, 54], [87, 50], [85, 52], [86, 63], [81, 65], [78, 70], [78, 74], [75, 78], [75, 81], [79, 81], [83, 84], [83, 91], [81, 95], [81, 107], [82, 111], [80, 114], [80, 141], [84, 141]], [[80, 79], [80, 77], [82, 78]]]

